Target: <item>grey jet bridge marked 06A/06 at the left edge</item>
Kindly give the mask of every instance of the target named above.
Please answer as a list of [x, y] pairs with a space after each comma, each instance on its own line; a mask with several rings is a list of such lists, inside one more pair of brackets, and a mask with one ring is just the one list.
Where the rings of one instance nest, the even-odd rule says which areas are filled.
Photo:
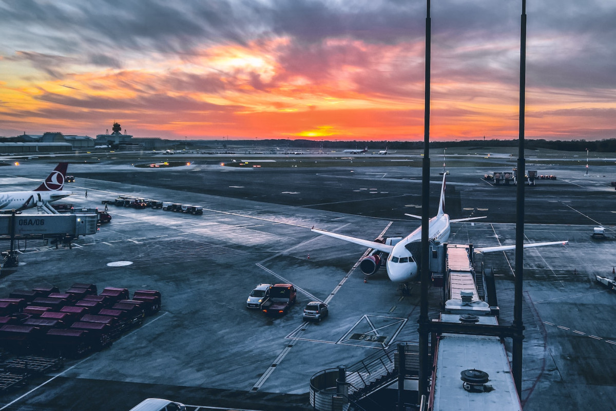
[[10, 240], [10, 250], [2, 253], [2, 267], [17, 267], [15, 240], [56, 240], [71, 246], [79, 235], [96, 234], [97, 213], [10, 214], [0, 216], [0, 240]]

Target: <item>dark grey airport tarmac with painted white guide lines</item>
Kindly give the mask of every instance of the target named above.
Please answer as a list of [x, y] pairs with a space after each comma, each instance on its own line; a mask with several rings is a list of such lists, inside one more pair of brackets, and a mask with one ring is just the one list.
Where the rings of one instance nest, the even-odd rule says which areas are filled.
[[[53, 158], [45, 161], [0, 168], [0, 187], [36, 187], [54, 166]], [[451, 218], [487, 216], [452, 224], [450, 243], [514, 243], [516, 187], [484, 179], [511, 163], [503, 159], [495, 167], [494, 161], [484, 165], [479, 158], [476, 165], [447, 168], [445, 210]], [[76, 282], [99, 290], [124, 287], [131, 295], [146, 288], [161, 291], [160, 313], [110, 348], [67, 360], [59, 372], [2, 394], [0, 411], [129, 410], [147, 397], [179, 401], [191, 410], [309, 410], [310, 376], [351, 366], [383, 346], [418, 341], [419, 285], [403, 296], [384, 269], [365, 278], [355, 269], [365, 249], [309, 228], [368, 240], [387, 226], [386, 235], [408, 234], [419, 226], [403, 214], [421, 214], [421, 168], [242, 169], [207, 156], [176, 168], [131, 163], [71, 163], [68, 173], [76, 182], [67, 189], [76, 195], [60, 202], [102, 209], [102, 200], [124, 194], [200, 205], [204, 214], [109, 206], [110, 224], [78, 238], [72, 249], [20, 244], [20, 266], [1, 272], [0, 295], [37, 285], [65, 290]], [[597, 166], [588, 175], [578, 165], [539, 169], [557, 179], [527, 187], [525, 238], [569, 244], [524, 254], [522, 404], [541, 411], [606, 409], [616, 397], [616, 294], [594, 275], [613, 278], [616, 261], [614, 243], [591, 234], [601, 225], [615, 236], [613, 167]], [[439, 171], [431, 171], [434, 211]], [[496, 274], [501, 320], [511, 321], [514, 251], [485, 254], [484, 261]], [[298, 304], [275, 319], [246, 309], [249, 292], [264, 282], [293, 283]], [[431, 295], [436, 318], [440, 290], [431, 288]], [[307, 302], [328, 298], [327, 319], [302, 321]], [[351, 338], [375, 330], [386, 337], [383, 343]], [[511, 341], [506, 346], [510, 350]]]

